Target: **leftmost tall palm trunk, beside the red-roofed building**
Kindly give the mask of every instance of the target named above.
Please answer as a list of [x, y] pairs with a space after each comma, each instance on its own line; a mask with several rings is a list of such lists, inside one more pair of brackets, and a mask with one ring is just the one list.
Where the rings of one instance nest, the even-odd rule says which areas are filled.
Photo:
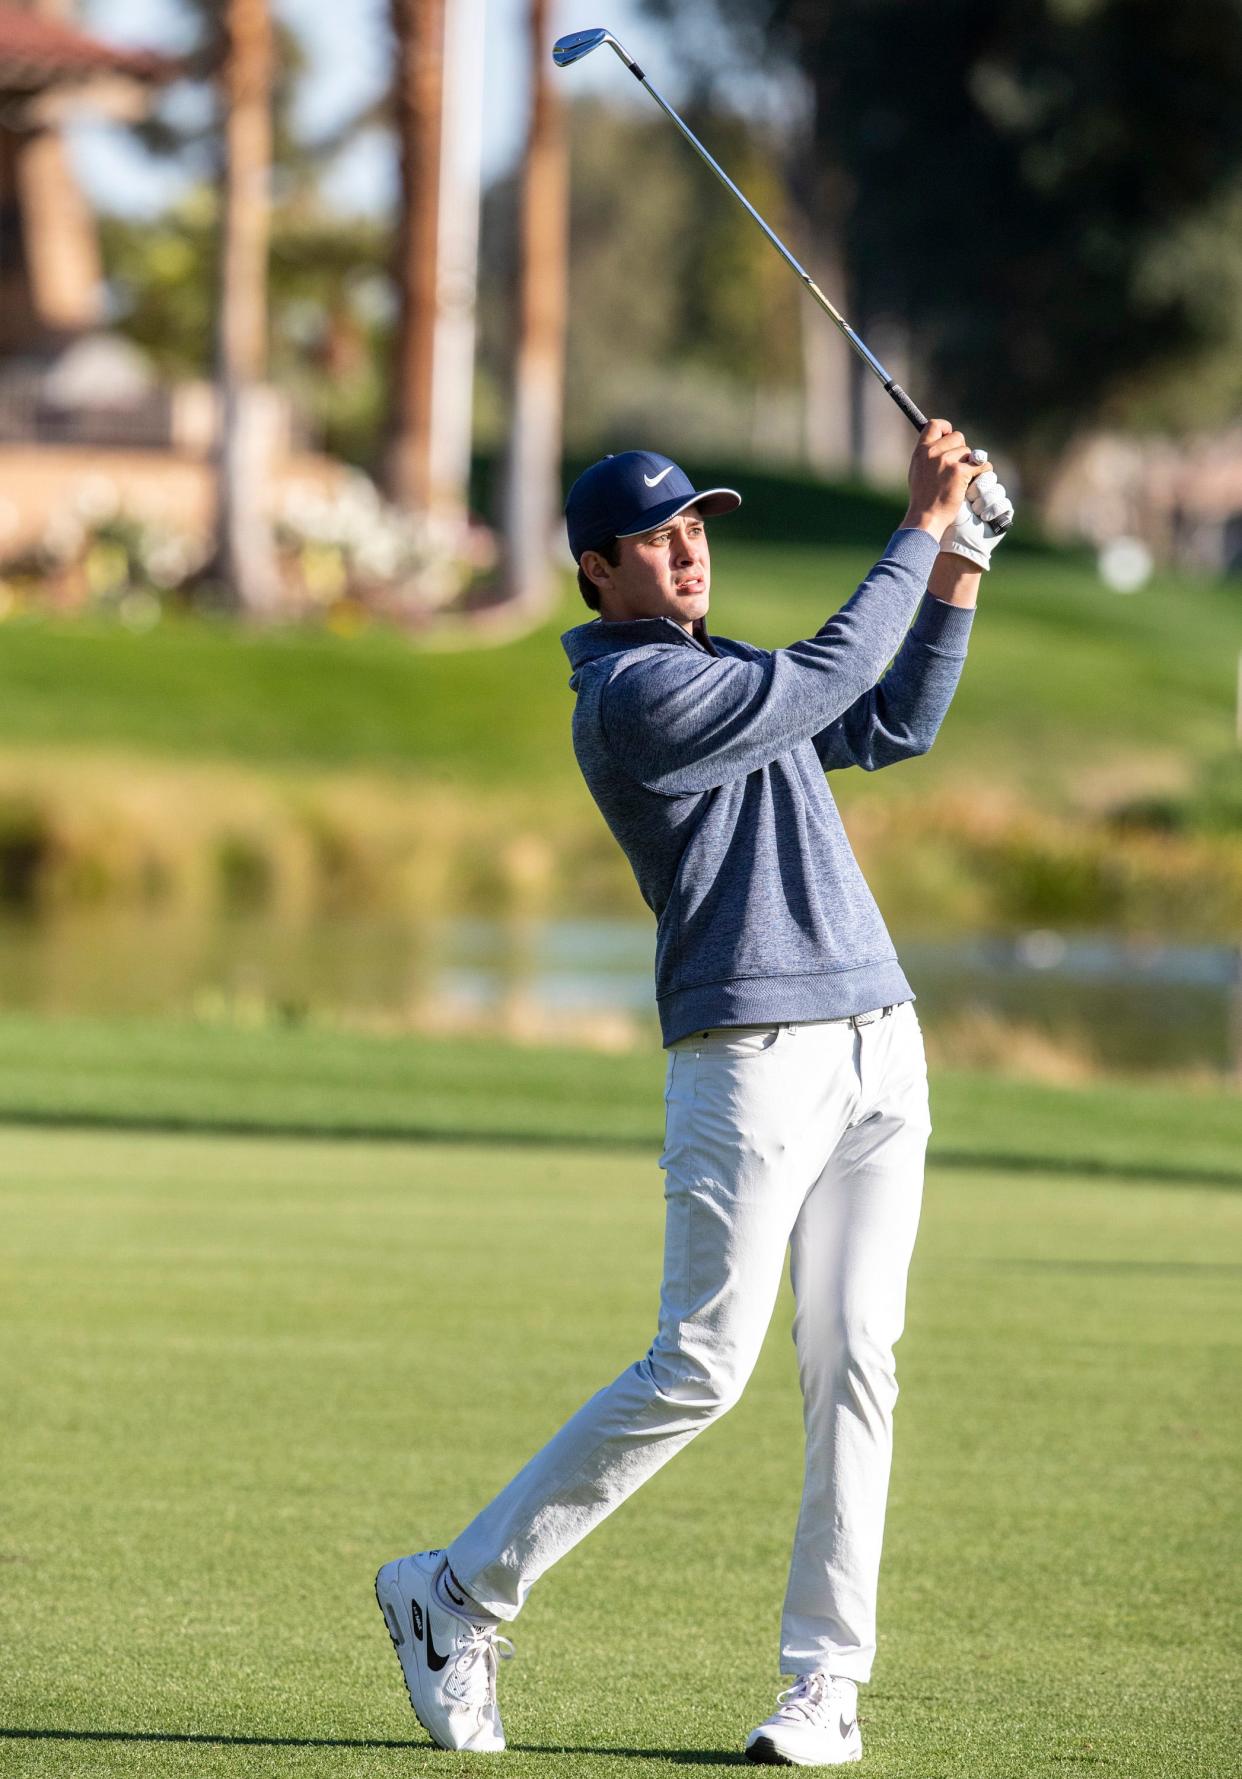
[[270, 391], [263, 388], [274, 60], [267, 0], [222, 0], [221, 32], [215, 571], [242, 610], [269, 616], [279, 598], [279, 576], [265, 512], [276, 423]]

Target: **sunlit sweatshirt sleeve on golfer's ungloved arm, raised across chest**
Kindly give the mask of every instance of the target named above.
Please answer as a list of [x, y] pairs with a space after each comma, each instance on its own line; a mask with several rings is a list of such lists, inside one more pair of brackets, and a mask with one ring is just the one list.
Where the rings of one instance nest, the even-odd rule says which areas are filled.
[[660, 649], [601, 696], [609, 747], [665, 795], [712, 790], [827, 729], [875, 685], [906, 633], [938, 543], [899, 530], [847, 603], [808, 640], [758, 660]]

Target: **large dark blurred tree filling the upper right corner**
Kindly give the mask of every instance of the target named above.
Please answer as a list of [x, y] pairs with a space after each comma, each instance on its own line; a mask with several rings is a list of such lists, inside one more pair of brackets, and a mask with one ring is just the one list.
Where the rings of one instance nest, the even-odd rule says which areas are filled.
[[733, 71], [810, 85], [804, 187], [847, 313], [915, 333], [923, 406], [1039, 447], [1190, 366], [1231, 361], [1237, 397], [1238, 0], [648, 5], [705, 78], [730, 43]]

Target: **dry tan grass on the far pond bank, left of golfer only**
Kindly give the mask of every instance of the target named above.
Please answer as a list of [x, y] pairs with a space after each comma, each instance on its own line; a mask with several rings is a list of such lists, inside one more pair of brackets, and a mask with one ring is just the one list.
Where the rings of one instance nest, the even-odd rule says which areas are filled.
[[11, 904], [34, 909], [265, 907], [290, 923], [347, 909], [537, 911], [578, 865], [598, 879], [593, 856], [605, 841], [601, 825], [584, 833], [537, 795], [461, 795], [361, 772], [0, 754], [0, 879]]

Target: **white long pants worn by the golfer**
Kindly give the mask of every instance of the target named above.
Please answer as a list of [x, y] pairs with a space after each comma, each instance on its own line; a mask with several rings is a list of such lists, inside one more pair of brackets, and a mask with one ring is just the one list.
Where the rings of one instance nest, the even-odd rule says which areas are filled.
[[790, 1249], [806, 1478], [781, 1672], [870, 1678], [893, 1443], [893, 1343], [931, 1133], [913, 1002], [845, 1021], [717, 1026], [669, 1048], [660, 1322], [448, 1548], [489, 1612], [731, 1407]]

